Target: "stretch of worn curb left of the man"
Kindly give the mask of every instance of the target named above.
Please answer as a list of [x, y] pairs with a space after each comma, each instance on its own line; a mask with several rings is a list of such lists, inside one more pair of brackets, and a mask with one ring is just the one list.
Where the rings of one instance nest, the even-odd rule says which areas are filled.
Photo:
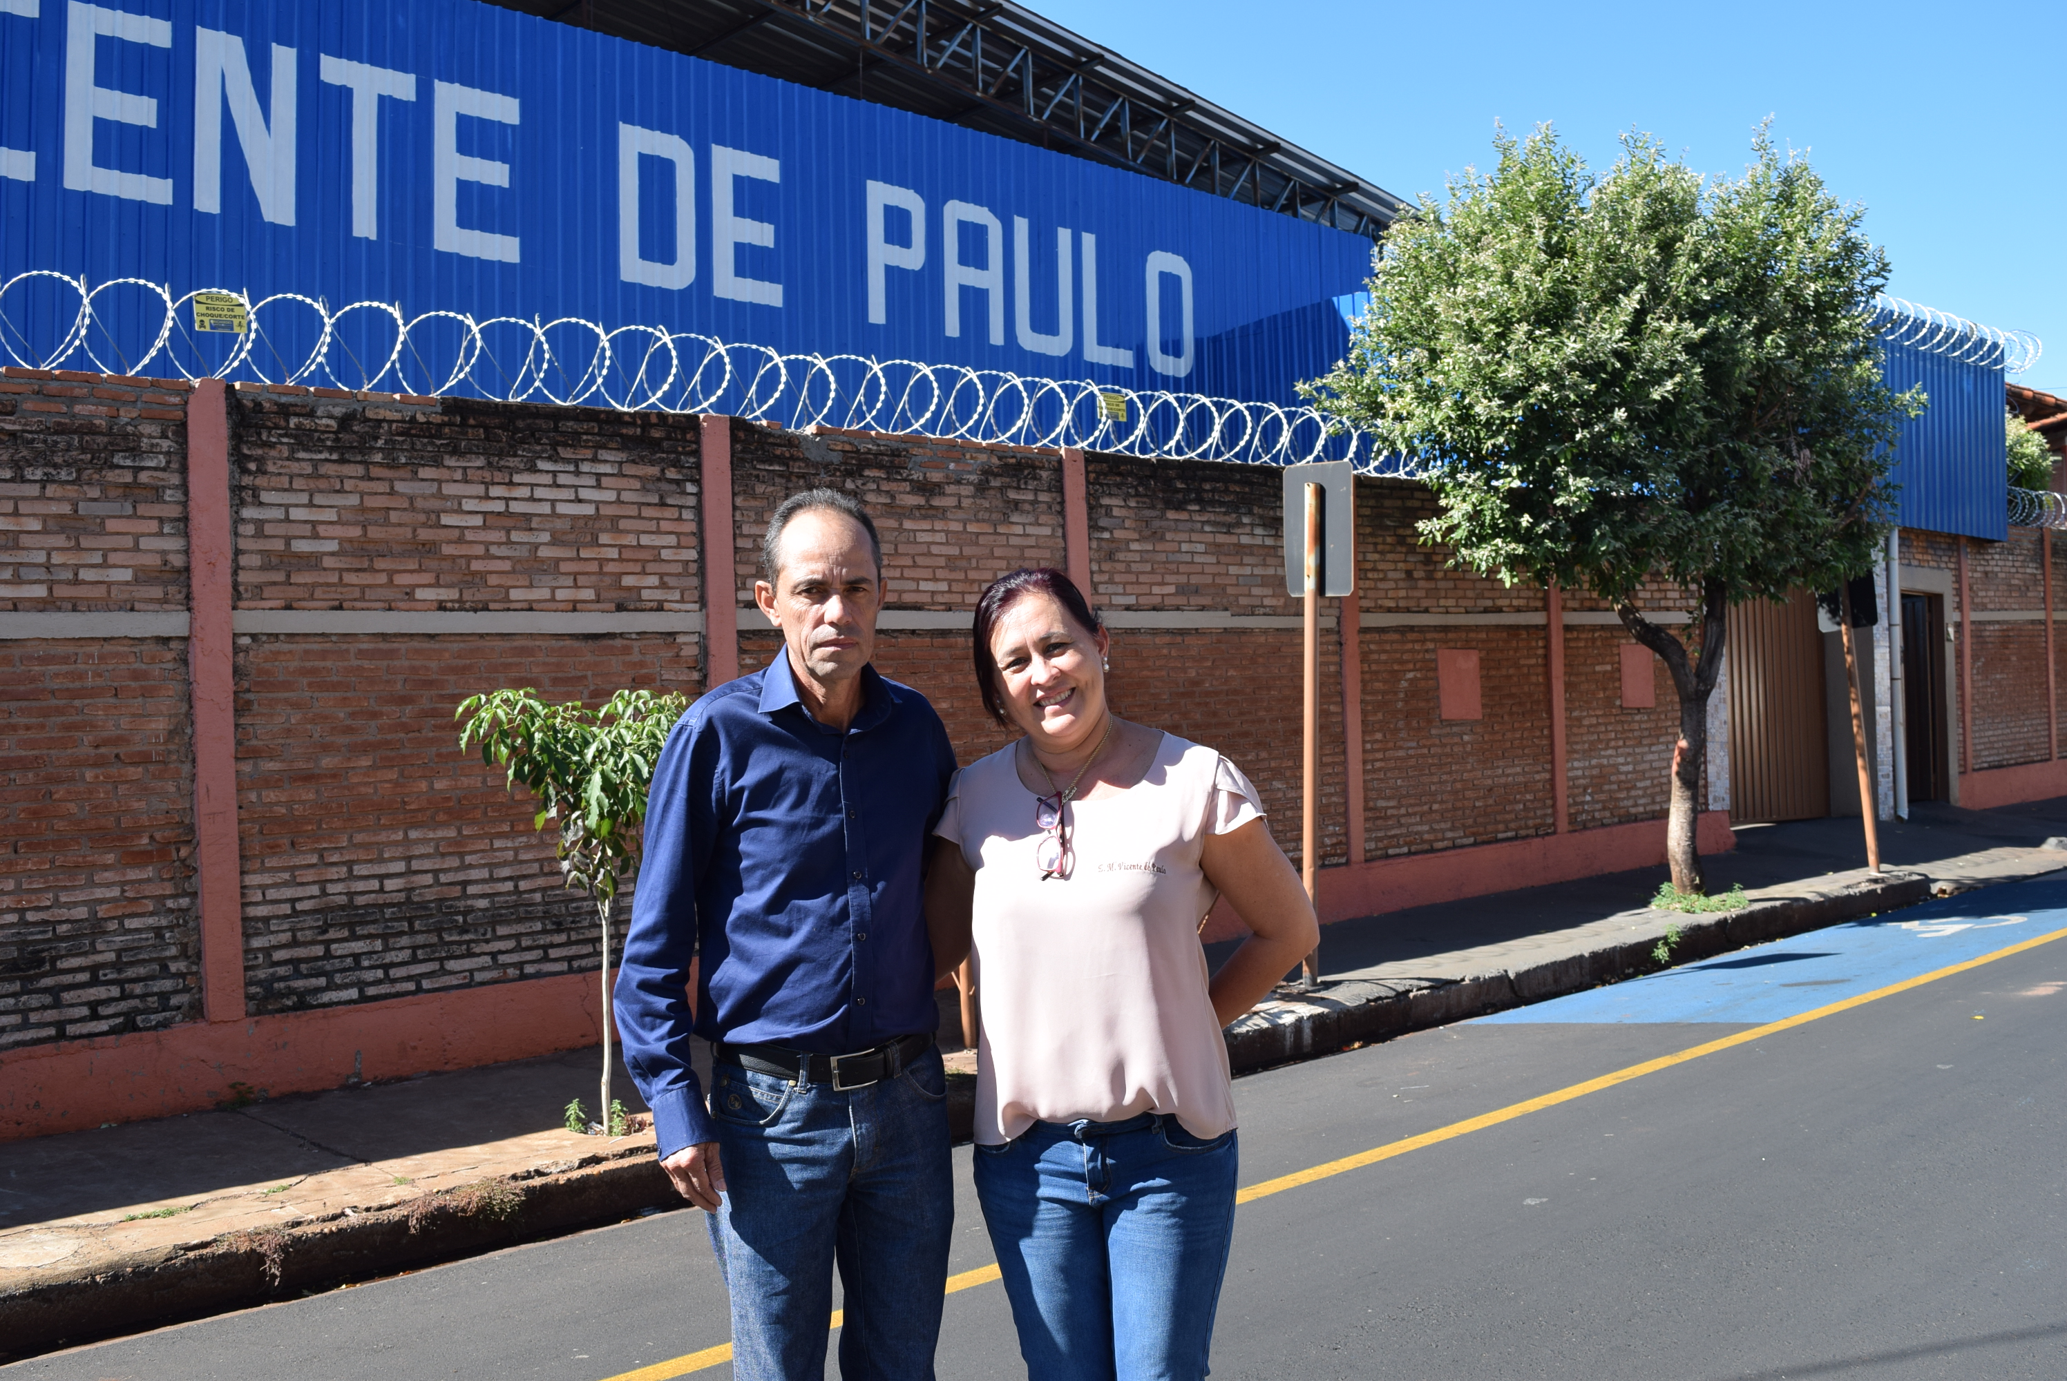
[[486, 1178], [393, 1209], [128, 1253], [0, 1294], [0, 1362], [682, 1207], [653, 1147]]

